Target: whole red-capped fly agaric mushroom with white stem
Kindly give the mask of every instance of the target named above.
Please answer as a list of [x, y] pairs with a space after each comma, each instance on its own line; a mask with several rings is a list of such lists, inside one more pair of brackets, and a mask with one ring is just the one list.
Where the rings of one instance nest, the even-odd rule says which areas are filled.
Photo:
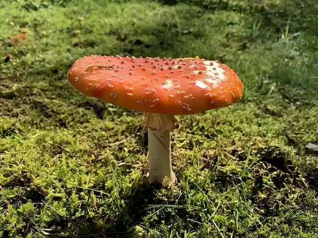
[[146, 114], [151, 183], [162, 183], [165, 177], [168, 184], [176, 180], [170, 146], [175, 115], [226, 107], [243, 93], [232, 69], [198, 57], [87, 56], [73, 63], [68, 79], [85, 95]]

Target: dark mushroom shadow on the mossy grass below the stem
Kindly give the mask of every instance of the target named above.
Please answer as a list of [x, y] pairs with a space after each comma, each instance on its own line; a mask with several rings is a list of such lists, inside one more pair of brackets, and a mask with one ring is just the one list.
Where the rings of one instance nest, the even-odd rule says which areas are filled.
[[[182, 217], [182, 219], [187, 221], [187, 224], [180, 225], [183, 229], [187, 227], [195, 229], [198, 227], [201, 216], [194, 214], [192, 211], [188, 211], [186, 206], [182, 205], [169, 209], [169, 205], [175, 205], [175, 200], [165, 201], [158, 198], [156, 193], [160, 188], [162, 188], [160, 185], [150, 185], [148, 183], [142, 183], [132, 187], [131, 192], [122, 197], [122, 199], [126, 201], [125, 207], [119, 210], [118, 216], [114, 219], [100, 217], [97, 221], [81, 216], [76, 220], [67, 220], [67, 218], [63, 217], [61, 220], [54, 220], [51, 221], [50, 224], [47, 224], [46, 227], [49, 228], [47, 230], [50, 230], [50, 227], [53, 226], [59, 227], [61, 230], [67, 230], [69, 226], [72, 226], [77, 228], [78, 237], [136, 238], [135, 226], [140, 225], [143, 227], [143, 218], [149, 213], [154, 212], [154, 209], [160, 212], [156, 213], [156, 218], [154, 217], [152, 221], [149, 221], [150, 227], [158, 226], [162, 221], [164, 221], [165, 224], [170, 224], [170, 221], [175, 219], [176, 216]], [[182, 201], [182, 198], [180, 198], [180, 200]], [[157, 208], [154, 208], [156, 206]], [[101, 228], [98, 223], [107, 224], [107, 228]], [[52, 232], [54, 232], [54, 230]], [[149, 231], [145, 232], [149, 233]]]

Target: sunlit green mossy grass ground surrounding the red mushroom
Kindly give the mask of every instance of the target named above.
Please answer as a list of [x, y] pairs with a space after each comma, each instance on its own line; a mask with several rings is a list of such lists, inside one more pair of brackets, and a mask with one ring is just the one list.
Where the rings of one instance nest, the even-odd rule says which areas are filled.
[[[304, 150], [318, 139], [317, 11], [316, 0], [0, 0], [0, 237], [318, 237], [318, 163]], [[150, 186], [142, 115], [67, 81], [90, 54], [220, 60], [244, 96], [179, 117], [179, 182]]]

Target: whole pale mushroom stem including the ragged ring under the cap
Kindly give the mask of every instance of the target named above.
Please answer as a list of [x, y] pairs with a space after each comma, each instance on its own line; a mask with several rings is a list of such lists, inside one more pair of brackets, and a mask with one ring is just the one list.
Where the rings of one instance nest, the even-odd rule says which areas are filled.
[[171, 166], [170, 130], [175, 127], [174, 116], [148, 113], [149, 181], [162, 184], [167, 179], [168, 185], [175, 182]]

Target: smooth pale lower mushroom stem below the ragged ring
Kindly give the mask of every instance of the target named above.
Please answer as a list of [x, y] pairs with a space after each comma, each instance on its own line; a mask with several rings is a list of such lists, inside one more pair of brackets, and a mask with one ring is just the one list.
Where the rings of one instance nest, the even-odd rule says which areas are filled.
[[149, 182], [173, 184], [176, 179], [171, 167], [170, 131], [148, 129]]

